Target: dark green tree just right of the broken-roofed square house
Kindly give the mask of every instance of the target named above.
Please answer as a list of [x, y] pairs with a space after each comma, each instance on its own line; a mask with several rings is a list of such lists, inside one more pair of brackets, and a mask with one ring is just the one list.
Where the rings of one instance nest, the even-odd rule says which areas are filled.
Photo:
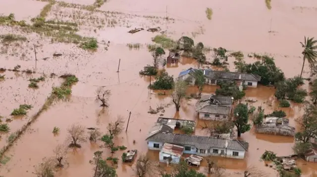
[[238, 104], [234, 108], [234, 124], [237, 127], [238, 137], [241, 137], [242, 133], [250, 130], [251, 126], [249, 122], [248, 106], [245, 104]]

